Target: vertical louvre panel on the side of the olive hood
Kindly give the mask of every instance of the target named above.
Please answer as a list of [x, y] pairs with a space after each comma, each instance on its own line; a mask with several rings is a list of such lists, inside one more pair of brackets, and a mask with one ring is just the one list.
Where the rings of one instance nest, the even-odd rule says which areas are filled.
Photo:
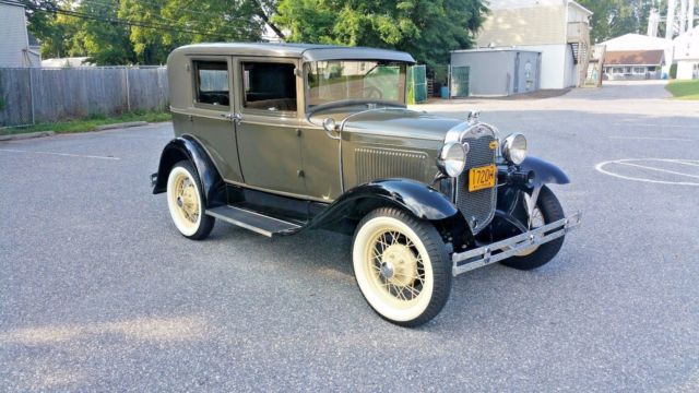
[[389, 148], [355, 150], [357, 184], [376, 179], [407, 178], [424, 181], [427, 154]]

